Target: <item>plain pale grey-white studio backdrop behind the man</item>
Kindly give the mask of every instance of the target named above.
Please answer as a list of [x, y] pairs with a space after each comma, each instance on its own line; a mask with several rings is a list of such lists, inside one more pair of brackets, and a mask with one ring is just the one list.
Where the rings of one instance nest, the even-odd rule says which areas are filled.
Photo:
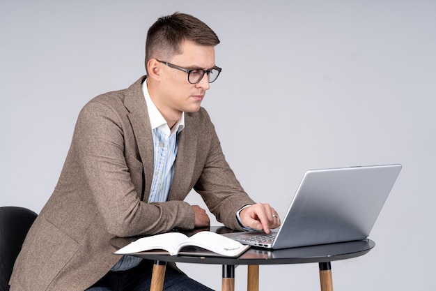
[[[143, 75], [148, 27], [176, 10], [221, 39], [203, 106], [254, 200], [283, 216], [307, 169], [403, 164], [377, 245], [332, 263], [335, 290], [435, 290], [434, 0], [0, 0], [0, 205], [40, 211], [81, 107]], [[220, 289], [219, 266], [181, 266]], [[318, 265], [260, 267], [261, 290], [272, 280], [318, 290]]]

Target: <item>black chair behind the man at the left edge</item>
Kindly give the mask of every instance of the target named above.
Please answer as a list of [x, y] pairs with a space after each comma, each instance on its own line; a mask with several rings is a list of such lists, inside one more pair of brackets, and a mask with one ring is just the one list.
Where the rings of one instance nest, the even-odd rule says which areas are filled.
[[36, 216], [23, 207], [0, 207], [0, 291], [9, 291], [15, 259]]

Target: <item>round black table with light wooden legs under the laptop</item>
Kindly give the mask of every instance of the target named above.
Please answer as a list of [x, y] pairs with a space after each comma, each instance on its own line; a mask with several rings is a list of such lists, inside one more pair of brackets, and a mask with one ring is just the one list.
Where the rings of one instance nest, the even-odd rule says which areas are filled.
[[[233, 232], [226, 227], [210, 227], [198, 229], [185, 234], [194, 234], [198, 231], [209, 230], [220, 234]], [[114, 238], [111, 244], [121, 248], [135, 238]], [[321, 291], [333, 291], [332, 261], [356, 258], [365, 255], [375, 246], [371, 239], [361, 241], [348, 241], [336, 244], [323, 244], [318, 246], [304, 246], [299, 248], [284, 248], [280, 250], [265, 250], [251, 247], [238, 258], [227, 257], [205, 257], [198, 255], [177, 255], [170, 256], [162, 252], [143, 252], [134, 255], [146, 260], [153, 260], [153, 276], [151, 291], [162, 291], [166, 262], [185, 262], [193, 264], [221, 264], [222, 282], [221, 290], [228, 291], [235, 289], [235, 266], [240, 264], [248, 265], [247, 290], [259, 290], [259, 265], [260, 264], [303, 264], [317, 262], [320, 270]]]

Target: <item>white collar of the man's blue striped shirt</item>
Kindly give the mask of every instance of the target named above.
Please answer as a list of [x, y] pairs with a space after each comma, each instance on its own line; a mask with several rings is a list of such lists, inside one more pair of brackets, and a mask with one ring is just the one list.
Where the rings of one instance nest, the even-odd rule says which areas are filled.
[[172, 130], [170, 130], [166, 120], [157, 109], [155, 103], [153, 103], [153, 100], [151, 100], [150, 94], [148, 94], [147, 80], [142, 83], [142, 91], [144, 97], [146, 98], [148, 117], [150, 118], [152, 130], [159, 128], [160, 130], [164, 131], [164, 133], [173, 135], [174, 133], [180, 133], [180, 131], [185, 128], [185, 112], [182, 112], [182, 116], [176, 122], [176, 125], [173, 126]]

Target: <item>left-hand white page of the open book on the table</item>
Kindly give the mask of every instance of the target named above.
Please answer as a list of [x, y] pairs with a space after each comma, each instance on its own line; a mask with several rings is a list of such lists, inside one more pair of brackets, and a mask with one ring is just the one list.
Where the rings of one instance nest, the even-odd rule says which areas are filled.
[[187, 236], [180, 232], [168, 232], [164, 234], [156, 234], [151, 237], [142, 237], [137, 239], [127, 246], [120, 248], [115, 253], [118, 255], [128, 255], [131, 253], [139, 253], [150, 250], [165, 250], [170, 255], [177, 255], [178, 245], [185, 241]]

